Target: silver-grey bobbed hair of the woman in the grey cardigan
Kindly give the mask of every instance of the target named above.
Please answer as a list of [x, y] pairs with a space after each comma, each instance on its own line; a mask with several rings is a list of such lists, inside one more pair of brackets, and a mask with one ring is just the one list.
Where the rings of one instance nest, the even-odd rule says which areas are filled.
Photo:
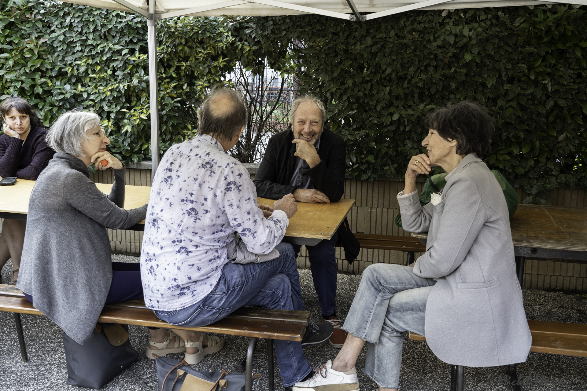
[[95, 113], [72, 110], [59, 115], [47, 132], [45, 141], [57, 152], [73, 156], [85, 156], [83, 147], [89, 140], [88, 130], [100, 127], [100, 117]]

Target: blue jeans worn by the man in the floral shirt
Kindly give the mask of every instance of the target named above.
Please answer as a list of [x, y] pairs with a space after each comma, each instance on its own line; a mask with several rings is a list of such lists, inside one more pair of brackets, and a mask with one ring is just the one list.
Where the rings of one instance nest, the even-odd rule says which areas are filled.
[[[245, 305], [301, 311], [296, 256], [291, 244], [275, 247], [279, 257], [263, 263], [227, 263], [211, 293], [199, 302], [175, 311], [153, 311], [172, 325], [203, 327], [226, 317]], [[302, 343], [275, 339], [275, 355], [284, 386], [305, 378], [312, 367], [303, 356]]]

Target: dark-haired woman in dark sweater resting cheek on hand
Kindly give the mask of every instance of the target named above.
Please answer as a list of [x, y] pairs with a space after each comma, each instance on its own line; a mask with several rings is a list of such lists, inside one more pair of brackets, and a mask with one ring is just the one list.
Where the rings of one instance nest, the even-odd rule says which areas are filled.
[[[11, 95], [0, 104], [3, 135], [0, 135], [0, 176], [36, 181], [55, 151], [45, 142], [46, 130], [35, 108], [21, 97]], [[25, 220], [4, 219], [0, 234], [0, 270], [12, 257], [11, 284], [16, 283], [21, 263]]]

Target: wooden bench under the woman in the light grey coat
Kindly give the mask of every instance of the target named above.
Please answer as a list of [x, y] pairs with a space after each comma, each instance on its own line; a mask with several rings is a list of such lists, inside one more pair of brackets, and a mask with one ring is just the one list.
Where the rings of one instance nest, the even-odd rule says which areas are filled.
[[[587, 325], [576, 323], [545, 322], [528, 319], [532, 334], [531, 352], [552, 353], [565, 356], [587, 357]], [[426, 341], [426, 337], [410, 332], [412, 341]], [[463, 390], [463, 372], [461, 365], [453, 365], [451, 373], [451, 390]], [[510, 380], [517, 379], [515, 365], [508, 368]], [[517, 383], [515, 390], [519, 390]]]

